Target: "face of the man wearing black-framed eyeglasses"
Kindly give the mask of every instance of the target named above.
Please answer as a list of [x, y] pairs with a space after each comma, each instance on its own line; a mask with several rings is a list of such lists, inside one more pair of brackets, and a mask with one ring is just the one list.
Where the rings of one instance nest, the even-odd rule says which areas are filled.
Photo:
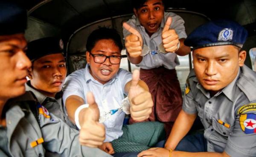
[[[96, 42], [95, 46], [91, 50], [93, 55], [116, 55], [121, 56], [121, 52], [118, 46], [112, 39], [102, 39]], [[102, 84], [107, 83], [113, 78], [119, 70], [120, 64], [111, 64], [109, 58], [104, 63], [95, 63], [93, 56], [89, 52], [86, 52], [87, 63], [90, 64], [90, 74], [94, 79]]]

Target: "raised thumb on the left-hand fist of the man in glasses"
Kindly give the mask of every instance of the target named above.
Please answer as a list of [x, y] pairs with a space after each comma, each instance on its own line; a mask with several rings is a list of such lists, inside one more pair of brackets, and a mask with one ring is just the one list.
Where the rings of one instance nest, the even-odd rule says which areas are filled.
[[94, 96], [92, 92], [87, 93], [87, 102], [89, 104], [89, 108], [93, 110], [92, 120], [99, 121], [99, 108], [95, 102]]

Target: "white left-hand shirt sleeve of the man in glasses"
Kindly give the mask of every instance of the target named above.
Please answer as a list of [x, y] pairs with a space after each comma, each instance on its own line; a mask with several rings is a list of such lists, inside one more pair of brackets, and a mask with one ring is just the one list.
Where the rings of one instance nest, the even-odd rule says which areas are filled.
[[[80, 74], [72, 73], [67, 76], [65, 84], [63, 86], [63, 103], [65, 105], [66, 99], [69, 96], [75, 95], [79, 96], [85, 101], [84, 97], [84, 89], [83, 89], [83, 81], [84, 78]], [[85, 84], [86, 82], [84, 82]]]

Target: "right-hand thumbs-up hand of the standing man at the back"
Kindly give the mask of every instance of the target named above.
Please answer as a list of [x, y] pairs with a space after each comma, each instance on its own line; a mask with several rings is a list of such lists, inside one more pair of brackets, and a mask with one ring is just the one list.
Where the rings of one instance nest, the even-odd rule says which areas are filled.
[[179, 36], [174, 29], [170, 29], [172, 17], [168, 17], [162, 32], [163, 47], [166, 52], [175, 52], [178, 49]]

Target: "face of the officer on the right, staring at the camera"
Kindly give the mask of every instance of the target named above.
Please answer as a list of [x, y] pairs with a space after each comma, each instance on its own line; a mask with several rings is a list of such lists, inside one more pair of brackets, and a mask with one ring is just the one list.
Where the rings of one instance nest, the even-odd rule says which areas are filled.
[[196, 77], [204, 89], [217, 93], [236, 77], [246, 52], [232, 45], [205, 47], [193, 52]]

